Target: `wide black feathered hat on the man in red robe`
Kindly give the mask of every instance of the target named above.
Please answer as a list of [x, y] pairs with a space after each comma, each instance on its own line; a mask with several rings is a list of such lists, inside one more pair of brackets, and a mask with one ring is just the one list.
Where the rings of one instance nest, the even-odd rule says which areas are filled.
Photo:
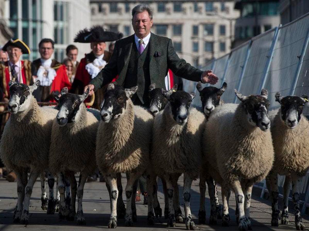
[[76, 35], [74, 42], [78, 43], [94, 43], [94, 42], [110, 42], [121, 39], [122, 33], [114, 33], [106, 31], [102, 26], [93, 26], [90, 29], [80, 30]]

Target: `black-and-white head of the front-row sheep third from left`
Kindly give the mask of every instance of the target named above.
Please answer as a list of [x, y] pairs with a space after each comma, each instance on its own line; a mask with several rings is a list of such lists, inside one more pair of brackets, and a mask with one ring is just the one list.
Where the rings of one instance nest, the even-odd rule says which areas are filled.
[[135, 94], [137, 86], [123, 88], [114, 83], [108, 84], [107, 91], [101, 103], [101, 120], [108, 123], [112, 119], [120, 118], [124, 114], [127, 100]]

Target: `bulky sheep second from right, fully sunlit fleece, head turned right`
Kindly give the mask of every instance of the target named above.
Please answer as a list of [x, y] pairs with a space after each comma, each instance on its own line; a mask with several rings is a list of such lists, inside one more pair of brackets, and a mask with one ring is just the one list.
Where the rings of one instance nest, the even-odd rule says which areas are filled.
[[239, 230], [250, 230], [252, 186], [267, 176], [274, 153], [268, 118], [268, 91], [244, 96], [239, 105], [215, 108], [205, 126], [202, 146], [210, 175], [222, 186], [222, 225], [228, 225], [229, 188], [235, 193]]

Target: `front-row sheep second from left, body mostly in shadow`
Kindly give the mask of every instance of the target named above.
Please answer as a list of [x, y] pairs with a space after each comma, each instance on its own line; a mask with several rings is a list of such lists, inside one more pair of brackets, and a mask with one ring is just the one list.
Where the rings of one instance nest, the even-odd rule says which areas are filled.
[[[99, 125], [99, 111], [89, 112], [83, 101], [87, 98], [89, 89], [83, 95], [68, 93], [65, 87], [61, 97], [54, 95], [59, 103], [57, 117], [53, 121], [51, 144], [49, 151], [49, 169], [58, 176], [60, 193], [59, 216], [74, 220], [76, 189], [78, 209], [77, 224], [86, 224], [83, 215], [83, 189], [87, 176], [96, 168], [95, 138]], [[95, 113], [96, 112], [96, 113]], [[74, 173], [80, 172], [78, 187]], [[68, 177], [71, 185], [70, 209], [65, 202], [64, 176]]]

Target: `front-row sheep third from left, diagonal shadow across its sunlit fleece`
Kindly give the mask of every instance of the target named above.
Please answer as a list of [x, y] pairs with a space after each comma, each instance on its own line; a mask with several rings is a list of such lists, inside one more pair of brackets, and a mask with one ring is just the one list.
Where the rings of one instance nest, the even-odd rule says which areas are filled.
[[[137, 86], [124, 89], [110, 83], [101, 103], [101, 122], [96, 139], [96, 161], [99, 170], [105, 176], [111, 188], [111, 217], [108, 228], [117, 227], [116, 203], [118, 189], [116, 174], [129, 173], [125, 187], [127, 207], [125, 224], [133, 225], [131, 200], [134, 182], [150, 167], [149, 149], [153, 117], [146, 109], [134, 106], [130, 97], [137, 91]], [[148, 178], [148, 176], [147, 176]], [[151, 185], [147, 182], [147, 192]], [[132, 199], [133, 198], [133, 199]], [[152, 196], [148, 200], [149, 223], [153, 223]]]

